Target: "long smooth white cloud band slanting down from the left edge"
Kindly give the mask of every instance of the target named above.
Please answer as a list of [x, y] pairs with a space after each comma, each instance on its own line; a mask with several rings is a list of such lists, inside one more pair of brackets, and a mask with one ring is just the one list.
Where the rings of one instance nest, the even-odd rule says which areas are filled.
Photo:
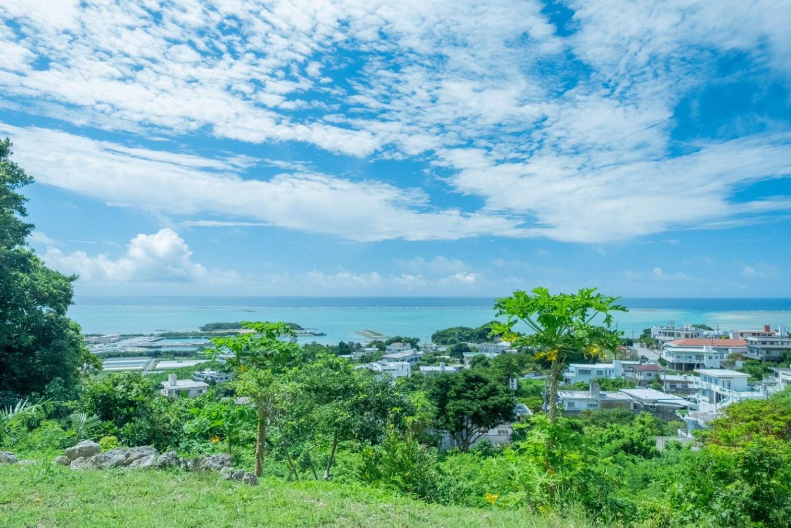
[[[347, 239], [458, 239], [518, 235], [518, 221], [489, 213], [431, 209], [419, 189], [352, 181], [317, 173], [242, 179], [240, 162], [189, 154], [124, 149], [55, 130], [0, 123], [13, 136], [15, 158], [39, 183], [61, 187], [114, 206], [189, 215], [217, 213]], [[187, 221], [216, 226], [224, 221]], [[232, 222], [234, 223], [234, 222]]]

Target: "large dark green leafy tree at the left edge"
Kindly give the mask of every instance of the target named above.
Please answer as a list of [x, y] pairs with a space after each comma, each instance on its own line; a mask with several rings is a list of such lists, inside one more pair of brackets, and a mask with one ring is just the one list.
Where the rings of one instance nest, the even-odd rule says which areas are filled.
[[50, 270], [26, 245], [25, 198], [17, 190], [32, 178], [0, 141], [0, 405], [28, 395], [74, 396], [83, 364], [92, 359], [77, 323], [66, 317], [72, 283]]

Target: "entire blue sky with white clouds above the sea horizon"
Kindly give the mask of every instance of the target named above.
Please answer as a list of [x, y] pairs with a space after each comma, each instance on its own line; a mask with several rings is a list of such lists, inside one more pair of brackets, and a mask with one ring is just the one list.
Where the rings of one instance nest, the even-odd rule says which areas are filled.
[[791, 4], [0, 5], [82, 293], [791, 296]]

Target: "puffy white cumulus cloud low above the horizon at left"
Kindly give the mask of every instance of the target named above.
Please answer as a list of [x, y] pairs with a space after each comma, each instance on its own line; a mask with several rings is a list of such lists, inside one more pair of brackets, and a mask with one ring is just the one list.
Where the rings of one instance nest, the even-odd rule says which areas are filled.
[[207, 270], [192, 262], [192, 251], [175, 231], [161, 229], [153, 235], [131, 239], [119, 258], [90, 256], [85, 251], [65, 252], [47, 247], [47, 265], [63, 273], [78, 274], [89, 282], [177, 281], [216, 284], [237, 281], [237, 274]]

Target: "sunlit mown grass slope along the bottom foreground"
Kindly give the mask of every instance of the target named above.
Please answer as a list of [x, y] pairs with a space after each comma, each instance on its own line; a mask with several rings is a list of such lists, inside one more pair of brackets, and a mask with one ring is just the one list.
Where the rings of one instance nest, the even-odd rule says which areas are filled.
[[0, 526], [587, 525], [315, 481], [252, 488], [217, 473], [0, 466]]

